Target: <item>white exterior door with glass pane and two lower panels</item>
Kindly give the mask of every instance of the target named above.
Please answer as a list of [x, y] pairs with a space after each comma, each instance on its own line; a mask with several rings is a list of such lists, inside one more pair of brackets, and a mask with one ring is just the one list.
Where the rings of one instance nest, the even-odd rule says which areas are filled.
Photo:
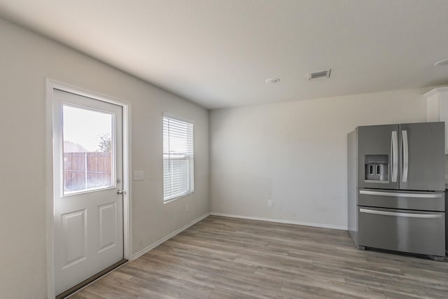
[[53, 90], [56, 294], [123, 260], [122, 118], [121, 106]]

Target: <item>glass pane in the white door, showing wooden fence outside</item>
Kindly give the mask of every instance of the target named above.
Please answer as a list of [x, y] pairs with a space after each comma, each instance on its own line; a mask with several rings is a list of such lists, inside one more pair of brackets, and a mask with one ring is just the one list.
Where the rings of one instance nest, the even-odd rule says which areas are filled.
[[114, 187], [113, 114], [64, 104], [62, 116], [64, 195]]

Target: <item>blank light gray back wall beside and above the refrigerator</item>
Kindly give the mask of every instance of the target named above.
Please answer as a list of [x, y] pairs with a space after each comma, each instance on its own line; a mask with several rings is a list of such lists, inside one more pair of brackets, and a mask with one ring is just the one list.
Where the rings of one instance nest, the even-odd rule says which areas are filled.
[[346, 229], [346, 134], [426, 121], [425, 91], [211, 111], [211, 212]]

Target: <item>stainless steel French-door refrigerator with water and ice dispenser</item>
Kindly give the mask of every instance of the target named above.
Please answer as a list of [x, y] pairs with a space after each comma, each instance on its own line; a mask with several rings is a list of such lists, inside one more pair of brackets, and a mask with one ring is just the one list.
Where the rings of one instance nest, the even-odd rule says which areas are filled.
[[348, 134], [349, 232], [366, 247], [445, 256], [444, 123]]

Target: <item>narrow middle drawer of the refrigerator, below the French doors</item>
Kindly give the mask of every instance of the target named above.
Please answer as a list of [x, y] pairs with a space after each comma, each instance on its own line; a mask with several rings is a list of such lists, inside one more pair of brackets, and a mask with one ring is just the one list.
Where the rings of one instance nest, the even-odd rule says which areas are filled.
[[358, 190], [358, 206], [421, 211], [445, 211], [444, 192]]

